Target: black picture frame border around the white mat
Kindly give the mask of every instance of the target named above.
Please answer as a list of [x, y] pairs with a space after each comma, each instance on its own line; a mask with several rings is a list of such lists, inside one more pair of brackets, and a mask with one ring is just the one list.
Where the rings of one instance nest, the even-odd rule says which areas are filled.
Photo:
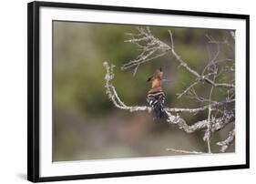
[[[246, 164], [218, 166], [218, 167], [203, 167], [189, 169], [159, 169], [159, 170], [140, 170], [117, 173], [101, 173], [101, 174], [85, 174], [60, 177], [39, 176], [39, 8], [57, 7], [57, 8], [74, 8], [74, 9], [96, 9], [96, 10], [111, 10], [118, 12], [133, 12], [133, 13], [149, 13], [163, 15], [192, 15], [205, 17], [219, 18], [235, 18], [246, 21]], [[250, 167], [250, 15], [235, 15], [235, 14], [219, 14], [208, 12], [194, 11], [178, 11], [167, 9], [151, 9], [109, 5], [81, 5], [68, 3], [53, 3], [53, 2], [32, 2], [27, 5], [27, 179], [33, 182], [42, 181], [57, 181], [69, 179], [96, 179], [110, 177], [126, 177], [139, 175], [156, 175], [181, 172], [196, 172], [207, 170], [223, 170], [223, 169], [249, 169]]]

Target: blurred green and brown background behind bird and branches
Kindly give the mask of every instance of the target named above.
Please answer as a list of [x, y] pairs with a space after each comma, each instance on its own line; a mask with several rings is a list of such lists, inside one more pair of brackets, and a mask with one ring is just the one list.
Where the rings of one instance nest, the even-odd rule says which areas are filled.
[[[166, 55], [133, 71], [122, 71], [120, 66], [138, 56], [135, 45], [125, 43], [135, 33], [136, 26], [93, 24], [78, 22], [53, 23], [54, 66], [54, 121], [53, 161], [138, 158], [169, 156], [177, 153], [167, 148], [207, 151], [207, 144], [199, 131], [187, 134], [165, 121], [154, 121], [147, 112], [130, 113], [114, 107], [105, 89], [103, 62], [114, 64], [114, 85], [119, 97], [128, 105], [147, 105], [146, 97], [150, 84], [148, 77], [162, 67], [163, 84], [168, 107], [200, 107], [197, 101], [182, 97], [182, 92], [192, 83], [192, 77], [179, 67], [174, 57]], [[197, 71], [207, 65], [208, 39], [230, 39], [230, 30], [150, 26], [154, 36], [169, 44], [169, 33], [173, 33], [176, 52]], [[230, 44], [234, 44], [230, 42]], [[210, 46], [210, 53], [216, 48]], [[220, 58], [234, 58], [234, 51], [223, 46]], [[209, 95], [210, 87], [199, 86], [200, 96]], [[213, 99], [221, 99], [225, 93], [213, 92]], [[192, 124], [207, 118], [205, 113], [182, 114]], [[220, 152], [215, 142], [227, 137], [231, 127], [213, 134], [211, 149]], [[234, 151], [232, 145], [227, 152]]]

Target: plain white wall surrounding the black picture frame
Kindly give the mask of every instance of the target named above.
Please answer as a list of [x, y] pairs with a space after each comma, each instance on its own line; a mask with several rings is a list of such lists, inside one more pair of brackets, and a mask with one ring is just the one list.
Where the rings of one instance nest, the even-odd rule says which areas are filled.
[[[2, 1], [0, 6], [0, 183], [26, 182], [26, 3]], [[69, 3], [141, 6], [251, 15], [251, 94], [255, 94], [256, 12], [253, 1], [237, 0], [66, 0]], [[254, 52], [253, 52], [254, 51]], [[254, 72], [254, 73], [253, 73]], [[242, 183], [256, 179], [255, 96], [251, 96], [251, 169], [170, 174], [62, 183]], [[254, 114], [252, 114], [254, 111]]]

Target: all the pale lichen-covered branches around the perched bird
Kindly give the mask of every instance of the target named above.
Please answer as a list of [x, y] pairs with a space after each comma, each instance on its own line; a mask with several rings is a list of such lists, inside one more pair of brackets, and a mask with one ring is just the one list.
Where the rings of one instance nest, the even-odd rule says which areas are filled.
[[[155, 58], [165, 56], [168, 53], [171, 56], [174, 56], [179, 66], [182, 66], [185, 71], [194, 77], [194, 81], [178, 94], [178, 98], [182, 98], [184, 96], [193, 98], [200, 103], [200, 106], [193, 108], [165, 107], [164, 110], [167, 114], [166, 121], [189, 134], [200, 130], [205, 131], [203, 139], [207, 141], [208, 153], [211, 153], [211, 134], [225, 128], [229, 124], [234, 124], [235, 122], [235, 79], [234, 77], [220, 77], [221, 75], [233, 75], [235, 72], [235, 62], [233, 58], [230, 58], [230, 56], [226, 58], [219, 58], [221, 51], [220, 46], [230, 46], [228, 39], [225, 38], [224, 41], [218, 41], [215, 40], [214, 37], [207, 35], [209, 45], [216, 46], [217, 50], [213, 56], [211, 56], [210, 49], [208, 47], [209, 62], [202, 71], [197, 71], [193, 67], [189, 66], [189, 62], [183, 60], [182, 57], [176, 52], [174, 39], [170, 30], [170, 45], [164, 43], [158, 37], [153, 36], [149, 27], [138, 27], [137, 30], [138, 33], [128, 34], [128, 36], [131, 38], [125, 40], [125, 42], [137, 46], [140, 54], [136, 59], [130, 60], [121, 66], [121, 69], [133, 69], [133, 75], [136, 75], [139, 66], [150, 61], [155, 61]], [[233, 40], [235, 40], [234, 32], [230, 32], [230, 36]], [[115, 107], [128, 110], [129, 112], [151, 111], [151, 107], [136, 105], [128, 106], [125, 104], [118, 96], [116, 87], [114, 87], [112, 84], [112, 80], [114, 79], [114, 66], [109, 66], [108, 62], [104, 62], [104, 66], [106, 68], [106, 92], [108, 94], [108, 98], [112, 101]], [[228, 79], [225, 80], [225, 78]], [[202, 94], [198, 95], [198, 89], [196, 89], [196, 87], [205, 84], [210, 85], [210, 95], [208, 97], [200, 97]], [[226, 97], [222, 98], [221, 100], [214, 99], [212, 95], [213, 90], [221, 91], [221, 93], [225, 94]], [[208, 116], [200, 121], [191, 123], [187, 122], [185, 118], [182, 118], [182, 113], [190, 113], [194, 115], [202, 111], [208, 112]], [[229, 148], [230, 144], [234, 141], [234, 137], [235, 131], [232, 130], [230, 131], [228, 138], [217, 143], [221, 147], [221, 152], [225, 152], [226, 149]], [[202, 153], [199, 151], [187, 151], [174, 148], [168, 148], [167, 150], [188, 154]]]

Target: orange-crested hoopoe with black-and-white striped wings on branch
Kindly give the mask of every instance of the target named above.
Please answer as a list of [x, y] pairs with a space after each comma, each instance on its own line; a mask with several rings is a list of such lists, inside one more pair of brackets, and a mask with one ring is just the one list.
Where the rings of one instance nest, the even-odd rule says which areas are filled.
[[147, 101], [151, 107], [152, 114], [154, 119], [163, 118], [166, 116], [164, 110], [164, 101], [165, 94], [162, 91], [161, 82], [162, 82], [163, 72], [161, 68], [157, 70], [157, 75], [154, 77], [149, 77], [148, 82], [151, 82], [151, 89], [148, 91]]

